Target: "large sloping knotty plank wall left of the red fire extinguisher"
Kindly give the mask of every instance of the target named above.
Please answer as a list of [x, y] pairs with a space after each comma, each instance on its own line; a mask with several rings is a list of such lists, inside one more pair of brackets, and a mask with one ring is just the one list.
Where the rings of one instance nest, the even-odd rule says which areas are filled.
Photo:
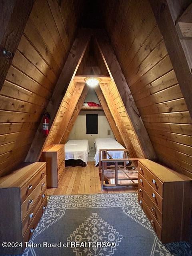
[[0, 176], [25, 159], [74, 41], [82, 6], [68, 0], [34, 4], [0, 92]]

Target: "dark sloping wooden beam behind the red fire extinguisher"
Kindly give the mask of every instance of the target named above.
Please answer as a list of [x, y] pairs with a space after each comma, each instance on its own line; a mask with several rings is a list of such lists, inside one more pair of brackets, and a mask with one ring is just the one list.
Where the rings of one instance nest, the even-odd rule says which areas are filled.
[[[74, 40], [68, 58], [64, 64], [62, 72], [58, 78], [52, 98], [50, 99], [45, 112], [48, 112], [51, 116], [50, 128], [54, 122], [54, 118], [60, 108], [63, 97], [66, 93], [70, 81], [74, 78], [78, 66], [84, 56], [88, 43], [90, 41], [89, 30], [79, 30], [77, 38]], [[42, 121], [36, 132], [30, 150], [26, 156], [26, 162], [36, 162], [39, 160], [44, 145], [46, 143], [47, 136], [42, 134]]]

